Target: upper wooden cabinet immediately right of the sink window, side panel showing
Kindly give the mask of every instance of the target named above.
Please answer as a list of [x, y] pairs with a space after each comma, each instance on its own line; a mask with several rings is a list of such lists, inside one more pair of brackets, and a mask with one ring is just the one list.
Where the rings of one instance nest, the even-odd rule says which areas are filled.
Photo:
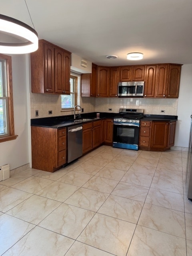
[[81, 96], [96, 97], [97, 95], [97, 65], [92, 63], [91, 74], [81, 74]]

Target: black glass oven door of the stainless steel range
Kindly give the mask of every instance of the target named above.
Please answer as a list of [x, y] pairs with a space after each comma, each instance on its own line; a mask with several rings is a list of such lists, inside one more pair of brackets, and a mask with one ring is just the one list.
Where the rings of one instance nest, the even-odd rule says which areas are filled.
[[139, 142], [139, 127], [114, 124], [114, 142], [136, 144]]

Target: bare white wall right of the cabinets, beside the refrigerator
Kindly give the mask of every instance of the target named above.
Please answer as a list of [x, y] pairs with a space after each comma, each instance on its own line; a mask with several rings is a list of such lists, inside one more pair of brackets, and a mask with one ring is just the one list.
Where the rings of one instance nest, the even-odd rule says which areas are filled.
[[188, 147], [192, 114], [192, 64], [181, 68], [175, 146]]

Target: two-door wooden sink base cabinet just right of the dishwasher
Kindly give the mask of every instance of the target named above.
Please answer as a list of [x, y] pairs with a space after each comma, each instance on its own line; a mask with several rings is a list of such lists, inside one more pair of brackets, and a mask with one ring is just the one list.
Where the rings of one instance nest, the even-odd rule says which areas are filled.
[[102, 121], [83, 124], [83, 154], [102, 144]]

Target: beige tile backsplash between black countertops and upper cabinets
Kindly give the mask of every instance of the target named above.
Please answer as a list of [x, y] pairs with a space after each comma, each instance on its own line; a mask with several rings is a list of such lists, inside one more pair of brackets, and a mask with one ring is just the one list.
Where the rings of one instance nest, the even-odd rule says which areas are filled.
[[[114, 112], [120, 108], [143, 108], [145, 114], [177, 115], [178, 99], [167, 98], [92, 98], [78, 97], [78, 104], [84, 108], [84, 113], [89, 112]], [[59, 95], [30, 94], [31, 118], [51, 116], [65, 116], [74, 114], [73, 111], [61, 112], [61, 97]], [[108, 110], [109, 108], [112, 111]], [[38, 117], [35, 111], [38, 110]], [[52, 110], [52, 114], [48, 111]], [[164, 110], [165, 112], [161, 112]]]

